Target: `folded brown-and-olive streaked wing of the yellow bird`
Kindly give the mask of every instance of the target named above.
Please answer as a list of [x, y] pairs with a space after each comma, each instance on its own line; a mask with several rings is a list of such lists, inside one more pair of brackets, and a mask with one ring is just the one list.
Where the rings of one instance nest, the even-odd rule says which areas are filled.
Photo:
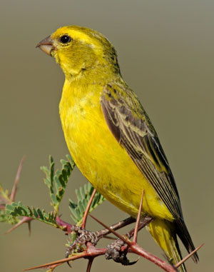
[[182, 220], [178, 190], [155, 129], [136, 95], [118, 84], [108, 84], [101, 95], [108, 128], [155, 189], [176, 221]]

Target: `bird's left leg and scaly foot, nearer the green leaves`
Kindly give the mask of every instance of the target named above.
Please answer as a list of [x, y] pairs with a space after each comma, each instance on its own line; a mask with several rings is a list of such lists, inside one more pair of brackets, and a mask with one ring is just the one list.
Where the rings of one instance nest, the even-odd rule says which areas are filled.
[[[111, 228], [116, 231], [119, 228], [128, 226], [135, 221], [135, 218], [128, 217], [118, 223], [113, 224]], [[71, 235], [73, 236], [74, 234], [75, 238], [72, 239], [71, 246], [68, 246], [66, 249], [66, 258], [70, 256], [72, 252], [81, 252], [83, 250], [82, 246], [84, 246], [87, 242], [91, 242], [93, 246], [96, 246], [96, 243], [98, 243], [101, 238], [107, 236], [109, 233], [111, 233], [111, 231], [109, 231], [107, 228], [100, 231], [87, 231], [84, 228], [76, 227], [76, 229], [71, 232]]]

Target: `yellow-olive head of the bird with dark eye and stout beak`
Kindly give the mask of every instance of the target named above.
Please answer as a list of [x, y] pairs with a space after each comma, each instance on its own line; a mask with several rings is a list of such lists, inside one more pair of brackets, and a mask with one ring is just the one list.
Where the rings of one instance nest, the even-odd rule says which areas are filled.
[[63, 26], [37, 44], [56, 59], [66, 78], [120, 74], [116, 51], [98, 31], [81, 26]]

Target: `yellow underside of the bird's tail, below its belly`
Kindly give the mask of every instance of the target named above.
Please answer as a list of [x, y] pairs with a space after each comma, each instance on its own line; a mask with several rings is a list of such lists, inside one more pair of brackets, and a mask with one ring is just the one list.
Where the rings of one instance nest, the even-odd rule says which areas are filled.
[[[173, 223], [156, 219], [149, 223], [147, 229], [151, 233], [151, 236], [153, 236], [156, 243], [158, 243], [158, 246], [161, 246], [170, 263], [175, 265], [182, 260]], [[179, 266], [178, 271], [186, 272], [185, 265], [182, 264]]]

